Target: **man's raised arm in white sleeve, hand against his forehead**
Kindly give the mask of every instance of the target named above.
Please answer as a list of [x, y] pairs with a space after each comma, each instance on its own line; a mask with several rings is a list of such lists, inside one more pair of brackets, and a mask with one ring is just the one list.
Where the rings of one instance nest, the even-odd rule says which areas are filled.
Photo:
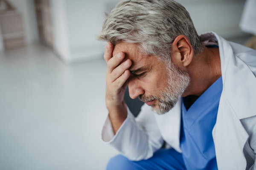
[[123, 98], [130, 76], [128, 68], [131, 66], [131, 60], [122, 62], [125, 54], [120, 52], [120, 55], [112, 57], [112, 52], [113, 45], [108, 42], [104, 58], [108, 65], [106, 105], [109, 113], [103, 126], [102, 140], [128, 159], [148, 159], [161, 147], [163, 139], [154, 120], [154, 113], [148, 111], [148, 107], [142, 108], [140, 114], [144, 116], [139, 116], [140, 123], [136, 122], [126, 107]]

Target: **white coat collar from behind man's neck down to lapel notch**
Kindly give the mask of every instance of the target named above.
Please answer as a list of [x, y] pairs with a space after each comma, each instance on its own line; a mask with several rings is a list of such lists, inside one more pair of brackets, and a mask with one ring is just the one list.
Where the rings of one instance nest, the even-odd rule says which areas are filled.
[[[202, 34], [202, 41], [217, 41], [221, 57], [223, 90], [239, 119], [256, 115], [256, 77], [239, 57], [232, 46], [215, 32]], [[250, 90], [249, 90], [250, 89]]]

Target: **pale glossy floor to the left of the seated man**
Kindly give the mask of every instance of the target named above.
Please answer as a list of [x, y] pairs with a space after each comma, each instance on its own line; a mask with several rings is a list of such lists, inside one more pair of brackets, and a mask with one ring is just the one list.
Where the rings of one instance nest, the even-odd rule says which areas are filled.
[[105, 71], [37, 44], [0, 52], [0, 170], [104, 170]]

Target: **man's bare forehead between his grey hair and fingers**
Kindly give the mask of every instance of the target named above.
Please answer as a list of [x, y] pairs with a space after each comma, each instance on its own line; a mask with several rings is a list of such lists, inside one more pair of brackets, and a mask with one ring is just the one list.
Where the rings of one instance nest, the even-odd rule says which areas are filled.
[[[125, 53], [125, 59], [122, 62], [125, 62], [127, 59], [131, 59], [132, 65], [130, 68], [141, 67], [142, 65], [147, 65], [149, 62], [149, 58], [151, 56], [145, 55], [140, 52], [139, 46], [135, 43], [119, 43], [114, 46], [113, 56], [118, 54], [119, 52]], [[121, 62], [121, 63], [122, 63]]]

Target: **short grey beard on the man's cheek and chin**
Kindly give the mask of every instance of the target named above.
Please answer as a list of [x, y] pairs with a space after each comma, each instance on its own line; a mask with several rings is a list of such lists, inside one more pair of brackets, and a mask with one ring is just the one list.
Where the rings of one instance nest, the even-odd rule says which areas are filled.
[[174, 63], [169, 62], [166, 69], [168, 71], [167, 88], [160, 91], [159, 96], [138, 96], [143, 102], [158, 100], [158, 104], [151, 105], [151, 110], [159, 115], [169, 112], [176, 105], [190, 81], [189, 74], [180, 70]]

